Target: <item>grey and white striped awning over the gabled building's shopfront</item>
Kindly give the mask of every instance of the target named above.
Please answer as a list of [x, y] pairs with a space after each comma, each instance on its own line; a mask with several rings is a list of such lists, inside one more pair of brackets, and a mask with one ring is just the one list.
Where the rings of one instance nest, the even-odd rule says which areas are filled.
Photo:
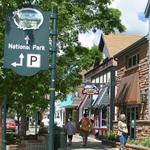
[[94, 108], [100, 107], [102, 105], [109, 105], [110, 100], [109, 100], [109, 95], [108, 95], [108, 87], [103, 87], [100, 89], [99, 96], [95, 101], [93, 101], [92, 106]]

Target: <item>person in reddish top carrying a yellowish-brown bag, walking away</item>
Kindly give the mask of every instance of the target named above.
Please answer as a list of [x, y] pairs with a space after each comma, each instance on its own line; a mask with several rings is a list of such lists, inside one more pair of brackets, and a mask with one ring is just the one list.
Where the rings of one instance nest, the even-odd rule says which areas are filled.
[[83, 117], [79, 121], [79, 130], [80, 130], [80, 135], [82, 136], [82, 139], [83, 139], [83, 146], [87, 145], [87, 140], [91, 132], [91, 128], [92, 128], [92, 125], [91, 125], [90, 119], [87, 117], [87, 114], [84, 113]]

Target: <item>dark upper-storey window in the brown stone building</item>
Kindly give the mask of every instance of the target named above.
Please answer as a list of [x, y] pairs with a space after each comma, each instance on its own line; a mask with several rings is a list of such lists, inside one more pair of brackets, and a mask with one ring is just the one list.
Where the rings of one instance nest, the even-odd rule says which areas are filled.
[[132, 55], [128, 58], [128, 68], [136, 66], [137, 64], [139, 64], [139, 54]]

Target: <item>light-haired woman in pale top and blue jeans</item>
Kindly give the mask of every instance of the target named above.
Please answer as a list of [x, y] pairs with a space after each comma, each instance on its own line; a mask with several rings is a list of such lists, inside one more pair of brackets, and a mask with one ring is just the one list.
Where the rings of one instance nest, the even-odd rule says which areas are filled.
[[118, 121], [118, 136], [120, 141], [120, 150], [125, 149], [125, 145], [128, 139], [128, 128], [126, 124], [125, 114], [121, 114]]

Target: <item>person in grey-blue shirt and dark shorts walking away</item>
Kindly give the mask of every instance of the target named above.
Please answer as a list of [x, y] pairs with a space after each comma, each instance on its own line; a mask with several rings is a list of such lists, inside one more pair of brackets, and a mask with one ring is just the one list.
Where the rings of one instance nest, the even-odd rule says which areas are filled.
[[71, 145], [73, 135], [76, 133], [76, 125], [75, 125], [75, 122], [72, 120], [72, 118], [69, 118], [69, 120], [66, 124], [66, 129], [67, 129], [67, 136], [68, 136], [68, 140], [69, 140], [68, 145]]

